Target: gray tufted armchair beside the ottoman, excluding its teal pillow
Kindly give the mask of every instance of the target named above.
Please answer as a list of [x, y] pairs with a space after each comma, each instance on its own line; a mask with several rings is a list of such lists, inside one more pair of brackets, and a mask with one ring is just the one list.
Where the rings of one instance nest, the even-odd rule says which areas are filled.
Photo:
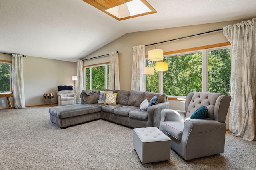
[[[189, 93], [185, 111], [161, 111], [159, 129], [172, 139], [171, 148], [185, 160], [223, 153], [230, 100], [230, 96], [217, 93]], [[208, 109], [206, 118], [190, 119], [202, 106]]]

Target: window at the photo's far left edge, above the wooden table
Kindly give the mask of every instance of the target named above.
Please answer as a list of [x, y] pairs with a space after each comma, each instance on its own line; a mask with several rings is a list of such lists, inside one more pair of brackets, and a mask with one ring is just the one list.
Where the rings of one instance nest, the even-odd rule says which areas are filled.
[[11, 64], [0, 61], [0, 92], [11, 92]]

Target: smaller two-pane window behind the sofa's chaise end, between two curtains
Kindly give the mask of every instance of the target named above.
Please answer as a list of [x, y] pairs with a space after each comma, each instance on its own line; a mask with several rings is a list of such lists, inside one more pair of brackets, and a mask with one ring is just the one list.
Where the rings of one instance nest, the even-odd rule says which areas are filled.
[[84, 89], [103, 90], [108, 88], [109, 64], [84, 68]]

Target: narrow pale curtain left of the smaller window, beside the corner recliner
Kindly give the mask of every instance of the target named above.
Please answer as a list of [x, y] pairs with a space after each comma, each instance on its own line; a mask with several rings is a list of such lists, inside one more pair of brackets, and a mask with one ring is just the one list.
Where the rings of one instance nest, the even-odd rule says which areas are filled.
[[84, 90], [83, 88], [83, 61], [82, 60], [78, 60], [77, 61], [77, 70], [76, 70], [76, 76], [77, 76], [77, 81], [76, 81], [76, 102], [81, 102], [80, 99], [80, 93], [82, 92], [82, 90]]

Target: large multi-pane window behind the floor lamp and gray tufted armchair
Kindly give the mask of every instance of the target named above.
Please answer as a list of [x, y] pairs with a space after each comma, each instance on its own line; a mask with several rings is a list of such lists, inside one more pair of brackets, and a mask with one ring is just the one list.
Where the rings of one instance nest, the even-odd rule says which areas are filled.
[[[170, 96], [201, 91], [230, 94], [230, 46], [165, 55], [164, 61], [168, 62], [168, 71], [155, 72], [152, 92]], [[146, 87], [149, 91], [150, 76], [147, 76]]]

